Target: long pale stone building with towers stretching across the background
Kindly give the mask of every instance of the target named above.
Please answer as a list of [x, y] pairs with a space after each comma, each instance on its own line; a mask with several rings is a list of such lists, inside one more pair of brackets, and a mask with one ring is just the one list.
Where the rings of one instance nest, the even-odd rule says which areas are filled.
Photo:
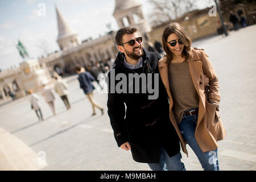
[[[229, 0], [222, 0], [220, 3], [226, 22], [229, 22], [229, 10], [233, 10], [236, 14], [242, 12], [249, 24], [255, 24], [255, 3], [226, 5], [225, 3], [230, 3]], [[192, 40], [217, 34], [220, 18], [218, 14], [209, 16], [210, 9], [212, 7], [191, 11], [172, 22], [179, 22]], [[60, 50], [39, 60], [27, 61], [19, 68], [0, 72], [0, 98], [2, 100], [10, 97], [9, 93], [15, 93], [16, 96], [21, 97], [28, 89], [38, 90], [43, 83], [51, 82], [51, 76], [54, 74], [58, 73], [61, 76], [72, 74], [77, 64], [84, 66], [91, 62], [115, 59], [118, 51], [114, 31], [94, 40], [81, 41], [79, 35], [68, 26], [68, 22], [65, 21], [57, 7], [56, 16], [59, 31], [56, 41]], [[145, 47], [148, 42], [154, 43], [156, 40], [162, 42], [164, 27], [170, 23], [150, 27], [142, 13], [142, 5], [137, 0], [115, 0], [113, 16], [119, 28], [138, 27]]]

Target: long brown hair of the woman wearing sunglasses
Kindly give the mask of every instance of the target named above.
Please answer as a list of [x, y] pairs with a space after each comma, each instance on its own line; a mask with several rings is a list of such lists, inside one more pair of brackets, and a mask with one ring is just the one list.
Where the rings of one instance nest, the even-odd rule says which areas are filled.
[[185, 56], [185, 59], [187, 60], [189, 56], [191, 56], [191, 44], [192, 44], [191, 38], [187, 36], [183, 27], [181, 27], [179, 23], [170, 23], [166, 26], [166, 28], [164, 28], [163, 39], [162, 39], [163, 48], [164, 48], [164, 51], [166, 51], [167, 62], [172, 61], [174, 59], [173, 53], [167, 46], [167, 44], [169, 44], [167, 42], [168, 36], [173, 33], [175, 33], [179, 37], [179, 39], [183, 42], [184, 49], [182, 51], [182, 56]]

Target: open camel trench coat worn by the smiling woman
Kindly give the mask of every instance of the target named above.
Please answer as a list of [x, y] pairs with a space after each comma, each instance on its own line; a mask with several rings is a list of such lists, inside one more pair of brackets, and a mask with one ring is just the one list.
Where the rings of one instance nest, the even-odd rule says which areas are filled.
[[[199, 94], [199, 113], [195, 138], [201, 150], [203, 152], [207, 152], [215, 150], [218, 147], [217, 141], [224, 139], [226, 135], [225, 128], [222, 125], [216, 106], [209, 103], [220, 103], [218, 78], [213, 70], [210, 60], [208, 59], [208, 55], [204, 52], [204, 49], [191, 48], [191, 51], [192, 55], [189, 56], [188, 59], [189, 71], [191, 73], [196, 92]], [[159, 60], [159, 73], [170, 101], [170, 119], [172, 125], [174, 125], [177, 135], [179, 136], [183, 152], [188, 156], [188, 151], [185, 147], [186, 142], [181, 136], [174, 112], [172, 111], [174, 102], [170, 91], [171, 85], [168, 80], [168, 63], [166, 63], [166, 59], [167, 57], [165, 56]], [[209, 77], [209, 94], [205, 93], [204, 74]]]

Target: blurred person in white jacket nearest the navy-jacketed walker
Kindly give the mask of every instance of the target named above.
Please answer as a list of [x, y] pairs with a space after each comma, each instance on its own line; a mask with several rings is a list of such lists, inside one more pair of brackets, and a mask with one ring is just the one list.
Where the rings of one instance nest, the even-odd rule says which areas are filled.
[[68, 85], [62, 80], [60, 77], [55, 77], [54, 89], [57, 94], [59, 94], [60, 98], [63, 100], [67, 109], [70, 109], [70, 104], [68, 101]]

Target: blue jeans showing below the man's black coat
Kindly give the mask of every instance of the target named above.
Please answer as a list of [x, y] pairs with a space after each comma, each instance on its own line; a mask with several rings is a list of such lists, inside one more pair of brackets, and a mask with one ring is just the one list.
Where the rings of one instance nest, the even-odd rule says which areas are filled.
[[161, 147], [159, 163], [148, 163], [148, 166], [153, 171], [185, 171], [181, 158], [180, 152], [170, 158], [164, 148]]

